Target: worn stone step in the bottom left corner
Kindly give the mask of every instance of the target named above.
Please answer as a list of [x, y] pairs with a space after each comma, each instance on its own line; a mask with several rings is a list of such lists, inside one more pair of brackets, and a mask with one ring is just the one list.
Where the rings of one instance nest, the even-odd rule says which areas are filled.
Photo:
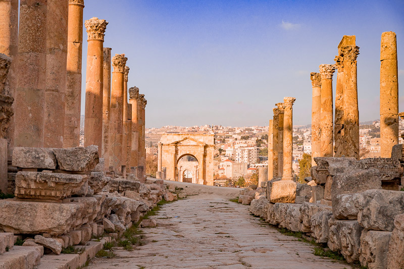
[[14, 246], [0, 255], [0, 269], [34, 269], [43, 255], [42, 246]]

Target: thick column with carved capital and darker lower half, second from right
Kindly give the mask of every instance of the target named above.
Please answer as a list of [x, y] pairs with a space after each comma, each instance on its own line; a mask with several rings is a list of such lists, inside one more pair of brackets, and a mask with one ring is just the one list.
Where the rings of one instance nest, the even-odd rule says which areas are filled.
[[[358, 86], [357, 86], [357, 57], [358, 46], [343, 46], [341, 54], [344, 66], [344, 151], [345, 157], [359, 159], [359, 109], [358, 109]], [[397, 135], [398, 136], [398, 135]], [[390, 150], [391, 154], [391, 150]]]

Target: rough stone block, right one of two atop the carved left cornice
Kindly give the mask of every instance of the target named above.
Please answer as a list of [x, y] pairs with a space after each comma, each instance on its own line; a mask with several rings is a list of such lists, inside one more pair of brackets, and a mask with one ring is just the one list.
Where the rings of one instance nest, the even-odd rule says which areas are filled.
[[66, 171], [91, 171], [98, 164], [98, 146], [54, 148], [58, 166]]

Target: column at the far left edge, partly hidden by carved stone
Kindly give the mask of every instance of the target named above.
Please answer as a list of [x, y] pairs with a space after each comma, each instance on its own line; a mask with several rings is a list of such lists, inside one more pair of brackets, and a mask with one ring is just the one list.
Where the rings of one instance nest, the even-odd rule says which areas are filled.
[[[17, 87], [18, 0], [0, 1], [0, 18], [0, 29], [2, 29], [0, 31], [0, 53], [5, 54], [11, 60], [10, 69], [5, 78], [4, 89], [0, 94], [14, 98]], [[9, 121], [9, 128], [6, 131], [5, 138], [7, 139], [8, 156], [10, 157], [14, 147], [14, 117], [11, 117]]]

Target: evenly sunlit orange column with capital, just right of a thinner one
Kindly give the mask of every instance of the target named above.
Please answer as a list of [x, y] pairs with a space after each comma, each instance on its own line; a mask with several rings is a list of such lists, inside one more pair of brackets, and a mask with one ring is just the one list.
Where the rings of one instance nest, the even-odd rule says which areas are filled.
[[333, 100], [332, 100], [332, 74], [335, 65], [320, 65], [321, 75], [321, 112], [320, 112], [320, 142], [321, 156], [332, 157], [333, 147]]

